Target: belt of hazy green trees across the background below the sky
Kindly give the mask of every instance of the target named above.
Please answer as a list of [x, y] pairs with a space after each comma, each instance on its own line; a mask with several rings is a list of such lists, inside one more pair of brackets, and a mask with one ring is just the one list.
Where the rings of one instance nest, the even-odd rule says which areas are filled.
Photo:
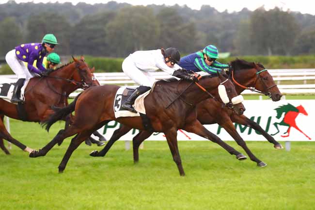
[[[315, 16], [279, 8], [218, 12], [211, 6], [131, 6], [106, 4], [0, 4], [0, 58], [18, 44], [40, 42], [52, 32], [62, 55], [126, 57], [153, 48], [176, 47], [182, 53], [214, 44], [240, 55], [298, 55], [315, 52]], [[9, 27], [8, 27], [9, 26]]]

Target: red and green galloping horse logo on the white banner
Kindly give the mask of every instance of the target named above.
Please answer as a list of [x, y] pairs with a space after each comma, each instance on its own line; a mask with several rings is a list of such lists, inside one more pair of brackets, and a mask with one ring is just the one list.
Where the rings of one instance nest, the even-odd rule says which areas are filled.
[[280, 119], [282, 113], [284, 113], [284, 118], [280, 123], [274, 123], [273, 124], [276, 127], [277, 132], [272, 134], [272, 135], [276, 135], [277, 133], [280, 132], [278, 125], [281, 125], [281, 126], [289, 127], [285, 132], [285, 133], [287, 133], [287, 135], [281, 135], [281, 137], [288, 137], [290, 135], [290, 130], [293, 127], [295, 129], [299, 130], [299, 132], [303, 133], [309, 140], [311, 140], [311, 138], [308, 135], [306, 135], [301, 129], [299, 129], [299, 127], [297, 126], [297, 123], [295, 122], [295, 119], [297, 118], [299, 113], [304, 114], [306, 116], [308, 115], [308, 113], [305, 111], [305, 109], [302, 105], [295, 107], [292, 104], [288, 103], [286, 105], [283, 105], [283, 106], [276, 108], [275, 110], [277, 111], [276, 117], [278, 119]]

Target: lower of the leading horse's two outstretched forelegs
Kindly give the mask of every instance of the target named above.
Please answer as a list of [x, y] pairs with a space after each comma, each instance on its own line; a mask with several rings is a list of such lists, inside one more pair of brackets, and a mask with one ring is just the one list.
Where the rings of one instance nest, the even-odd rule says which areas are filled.
[[245, 141], [242, 139], [242, 137], [238, 134], [238, 132], [236, 131], [233, 123], [231, 120], [225, 120], [223, 124], [220, 124], [220, 126], [222, 126], [222, 128], [224, 128], [233, 138], [234, 140], [236, 141], [236, 143], [238, 145], [240, 145], [244, 150], [245, 152], [248, 154], [248, 156], [250, 157], [250, 159], [253, 161], [253, 162], [256, 162], [257, 163], [257, 166], [259, 167], [265, 167], [267, 166], [266, 163], [260, 161], [258, 158], [256, 158], [254, 156], [254, 154], [252, 154], [252, 151], [247, 147]]

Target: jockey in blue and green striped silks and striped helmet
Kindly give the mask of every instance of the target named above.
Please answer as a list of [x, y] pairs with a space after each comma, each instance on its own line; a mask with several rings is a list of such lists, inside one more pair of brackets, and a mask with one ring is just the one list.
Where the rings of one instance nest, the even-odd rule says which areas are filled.
[[219, 51], [214, 45], [208, 45], [202, 51], [189, 54], [182, 59], [178, 65], [194, 72], [205, 71], [209, 74], [217, 74], [222, 69], [231, 68], [227, 64], [221, 64], [216, 59], [219, 58]]

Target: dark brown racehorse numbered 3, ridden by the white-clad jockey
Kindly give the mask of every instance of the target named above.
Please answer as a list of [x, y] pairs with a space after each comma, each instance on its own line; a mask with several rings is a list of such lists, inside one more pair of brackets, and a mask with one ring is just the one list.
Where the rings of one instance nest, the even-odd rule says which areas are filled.
[[[198, 84], [209, 91], [214, 96], [218, 95], [218, 85], [222, 84], [226, 88], [229, 100], [236, 97], [235, 87], [229, 79], [218, 73], [218, 77], [205, 76], [201, 78]], [[227, 75], [225, 74], [227, 77]], [[47, 152], [58, 142], [63, 139], [77, 134], [63, 157], [59, 165], [59, 172], [63, 172], [73, 151], [96, 129], [101, 128], [109, 121], [115, 120], [125, 124], [131, 128], [144, 130], [142, 118], [139, 117], [119, 117], [115, 118], [113, 104], [114, 97], [119, 89], [116, 85], [102, 85], [91, 87], [84, 91], [75, 101], [75, 119], [74, 122], [65, 130], [60, 130], [54, 139], [39, 151], [32, 151], [30, 157], [45, 156]], [[185, 91], [184, 91], [185, 90]], [[233, 147], [224, 143], [213, 133], [209, 132], [196, 118], [195, 105], [200, 101], [210, 97], [209, 92], [203, 91], [199, 86], [188, 81], [157, 81], [154, 89], [144, 99], [146, 115], [151, 121], [153, 130], [163, 132], [166, 136], [167, 143], [173, 155], [173, 160], [177, 164], [180, 175], [184, 176], [184, 169], [177, 147], [177, 130], [184, 129], [193, 132], [204, 138], [221, 145], [230, 154], [236, 155], [236, 158], [242, 158], [240, 152]], [[179, 93], [182, 93], [178, 98]], [[174, 100], [178, 98], [177, 100]], [[90, 103], [91, 100], [97, 103]], [[173, 104], [168, 107], [170, 102]], [[168, 108], [166, 108], [168, 107]], [[62, 119], [64, 115], [72, 112], [72, 108], [65, 107], [53, 114], [48, 121], [45, 122], [46, 129]], [[234, 106], [234, 110], [238, 114], [242, 114], [245, 110], [241, 103]], [[102, 156], [103, 151], [94, 152], [94, 156]]]

